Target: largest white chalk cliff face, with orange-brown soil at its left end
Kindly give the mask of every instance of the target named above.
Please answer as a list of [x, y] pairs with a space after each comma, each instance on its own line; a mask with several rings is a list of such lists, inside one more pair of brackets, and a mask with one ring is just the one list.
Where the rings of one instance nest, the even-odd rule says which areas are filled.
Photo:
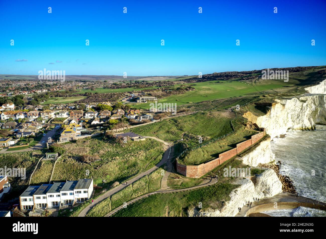
[[287, 129], [313, 130], [316, 124], [326, 124], [326, 95], [302, 96], [299, 99], [275, 100], [271, 110], [263, 116], [251, 112], [244, 117], [266, 128], [271, 139], [284, 134]]

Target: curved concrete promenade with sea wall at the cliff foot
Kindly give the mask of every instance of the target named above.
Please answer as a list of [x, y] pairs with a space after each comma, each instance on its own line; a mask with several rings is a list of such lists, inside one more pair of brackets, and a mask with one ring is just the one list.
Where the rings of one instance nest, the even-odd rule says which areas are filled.
[[251, 207], [243, 206], [236, 217], [246, 217], [251, 213], [270, 210], [293, 209], [299, 206], [326, 210], [326, 203], [314, 199], [297, 196], [293, 193], [282, 192], [274, 197], [259, 199], [259, 202], [252, 201]]

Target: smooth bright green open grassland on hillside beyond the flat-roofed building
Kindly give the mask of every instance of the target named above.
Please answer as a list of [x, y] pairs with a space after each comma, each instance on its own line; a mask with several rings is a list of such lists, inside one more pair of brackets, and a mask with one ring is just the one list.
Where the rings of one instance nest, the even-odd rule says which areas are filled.
[[[195, 90], [186, 92], [182, 95], [173, 95], [158, 100], [160, 103], [176, 103], [178, 105], [191, 104], [201, 101], [216, 100], [230, 97], [239, 97], [250, 94], [259, 94], [260, 91], [291, 86], [291, 84], [281, 81], [266, 81], [258, 84], [248, 84], [239, 81], [206, 81], [191, 85]], [[178, 85], [175, 85], [178, 86]], [[180, 85], [181, 86], [181, 85]], [[132, 104], [133, 107], [149, 109], [150, 103]]]

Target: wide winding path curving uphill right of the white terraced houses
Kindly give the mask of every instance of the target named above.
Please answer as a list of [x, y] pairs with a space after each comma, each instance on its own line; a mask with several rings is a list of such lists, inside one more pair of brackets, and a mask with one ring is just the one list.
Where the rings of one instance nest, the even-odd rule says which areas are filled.
[[[151, 172], [153, 172], [154, 170], [156, 170], [157, 168], [159, 168], [160, 166], [164, 165], [168, 159], [170, 158], [170, 153], [171, 153], [171, 147], [167, 142], [164, 142], [161, 139], [157, 139], [155, 137], [146, 137], [146, 138], [151, 138], [151, 139], [156, 139], [160, 142], [164, 143], [164, 148], [165, 148], [165, 152], [163, 154], [163, 158], [162, 160], [156, 164], [154, 167], [148, 169], [145, 172], [140, 173], [139, 175], [137, 175], [136, 177], [132, 178], [132, 179], [128, 179], [128, 185], [134, 183], [135, 181], [137, 181], [138, 179], [144, 177], [145, 175], [150, 174]], [[88, 206], [86, 206], [78, 215], [78, 217], [85, 217], [86, 214], [88, 213], [88, 211], [90, 209], [92, 209], [96, 204], [100, 203], [101, 201], [103, 201], [104, 199], [111, 197], [111, 195], [113, 195], [114, 193], [119, 192], [120, 190], [124, 189], [126, 187], [126, 183], [120, 184], [119, 186], [107, 191], [106, 193], [104, 193], [103, 195], [99, 196], [98, 198], [96, 198], [96, 200], [94, 200], [94, 204], [90, 204]]]

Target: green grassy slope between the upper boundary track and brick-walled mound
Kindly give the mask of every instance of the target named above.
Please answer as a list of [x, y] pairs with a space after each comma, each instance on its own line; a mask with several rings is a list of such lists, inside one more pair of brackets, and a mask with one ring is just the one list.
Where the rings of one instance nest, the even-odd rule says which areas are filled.
[[232, 131], [230, 121], [233, 117], [235, 114], [230, 111], [200, 112], [140, 126], [132, 131], [143, 136], [157, 137], [164, 141], [175, 141], [183, 138], [185, 143], [197, 144], [198, 136], [201, 136], [204, 141]]

